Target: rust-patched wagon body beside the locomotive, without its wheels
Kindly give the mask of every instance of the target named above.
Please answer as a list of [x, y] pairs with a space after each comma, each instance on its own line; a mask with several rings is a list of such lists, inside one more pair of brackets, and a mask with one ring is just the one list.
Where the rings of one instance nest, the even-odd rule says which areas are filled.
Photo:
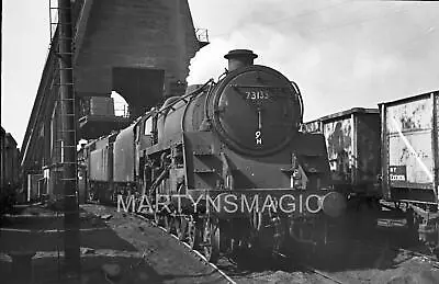
[[334, 186], [351, 198], [380, 198], [380, 113], [354, 107], [304, 125], [325, 136]]

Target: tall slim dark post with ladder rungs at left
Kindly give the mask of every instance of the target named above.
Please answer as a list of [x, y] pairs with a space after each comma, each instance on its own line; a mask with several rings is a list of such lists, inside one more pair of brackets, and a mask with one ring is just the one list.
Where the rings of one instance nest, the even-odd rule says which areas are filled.
[[58, 0], [58, 46], [64, 194], [64, 247], [67, 272], [80, 274], [79, 207], [77, 200], [76, 115], [72, 76], [72, 25], [70, 0]]

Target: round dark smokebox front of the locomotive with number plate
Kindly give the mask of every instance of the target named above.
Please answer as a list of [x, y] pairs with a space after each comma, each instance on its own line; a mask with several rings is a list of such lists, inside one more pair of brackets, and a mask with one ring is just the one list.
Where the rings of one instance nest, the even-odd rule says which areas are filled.
[[244, 66], [229, 72], [210, 94], [210, 118], [234, 150], [270, 155], [290, 143], [297, 130], [302, 111], [297, 95], [278, 71]]

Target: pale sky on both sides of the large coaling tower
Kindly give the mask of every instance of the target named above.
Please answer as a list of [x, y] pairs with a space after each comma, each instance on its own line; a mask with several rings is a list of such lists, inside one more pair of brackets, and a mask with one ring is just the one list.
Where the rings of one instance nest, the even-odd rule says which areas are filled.
[[[304, 120], [439, 90], [439, 2], [189, 0], [210, 44], [188, 82], [217, 78], [230, 49], [295, 81]], [[48, 53], [47, 0], [2, 1], [1, 125], [22, 144]]]

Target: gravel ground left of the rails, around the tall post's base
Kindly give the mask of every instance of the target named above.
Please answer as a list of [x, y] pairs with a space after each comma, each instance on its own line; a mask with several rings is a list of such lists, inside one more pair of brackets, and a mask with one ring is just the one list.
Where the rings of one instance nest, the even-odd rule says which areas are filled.
[[[100, 218], [106, 214], [110, 219]], [[20, 216], [8, 216], [0, 231], [0, 282], [14, 283], [8, 253], [16, 250], [36, 251], [32, 261], [34, 283], [112, 283], [104, 276], [104, 264], [117, 265], [111, 268], [120, 271], [113, 283], [225, 282], [177, 240], [136, 217], [85, 205], [80, 221], [82, 279], [67, 281], [61, 265], [63, 234], [57, 231], [63, 228], [63, 218], [43, 208], [26, 208]]]

